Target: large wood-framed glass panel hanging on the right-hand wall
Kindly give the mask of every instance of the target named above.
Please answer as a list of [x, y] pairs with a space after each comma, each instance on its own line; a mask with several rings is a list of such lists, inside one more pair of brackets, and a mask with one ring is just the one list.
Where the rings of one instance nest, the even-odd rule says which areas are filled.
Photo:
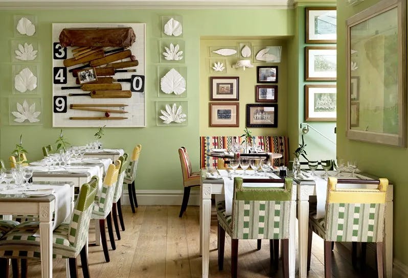
[[347, 20], [350, 139], [406, 146], [405, 13], [383, 0]]

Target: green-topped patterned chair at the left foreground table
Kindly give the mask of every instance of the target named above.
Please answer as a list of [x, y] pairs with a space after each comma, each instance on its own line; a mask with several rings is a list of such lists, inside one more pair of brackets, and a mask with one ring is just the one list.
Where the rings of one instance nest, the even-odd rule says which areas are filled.
[[[81, 255], [82, 272], [89, 277], [85, 244], [88, 238], [90, 215], [92, 214], [98, 177], [85, 183], [80, 189], [69, 223], [62, 223], [53, 231], [53, 258], [68, 258], [71, 277], [77, 277], [76, 258]], [[40, 238], [33, 234], [39, 229], [38, 221], [24, 222], [14, 227], [0, 239], [0, 257], [22, 259], [22, 274], [27, 273], [28, 258], [41, 258]], [[1, 269], [7, 268], [2, 260]], [[4, 272], [3, 272], [4, 273]], [[17, 272], [18, 273], [18, 272]], [[18, 275], [18, 274], [16, 274]], [[7, 277], [7, 276], [6, 276]]]

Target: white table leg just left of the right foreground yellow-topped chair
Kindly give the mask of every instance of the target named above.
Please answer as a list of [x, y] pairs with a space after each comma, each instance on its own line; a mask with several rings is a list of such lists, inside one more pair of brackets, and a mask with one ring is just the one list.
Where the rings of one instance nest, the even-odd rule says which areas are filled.
[[[298, 187], [299, 188], [299, 187]], [[309, 224], [309, 201], [298, 201], [299, 223], [299, 278], [307, 275], [307, 231]]]

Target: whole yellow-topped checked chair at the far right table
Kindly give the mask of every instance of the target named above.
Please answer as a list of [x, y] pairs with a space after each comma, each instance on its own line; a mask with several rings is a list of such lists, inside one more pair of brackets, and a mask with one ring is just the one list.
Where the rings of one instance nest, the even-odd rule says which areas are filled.
[[[337, 188], [338, 183], [378, 184], [377, 189]], [[331, 277], [332, 242], [375, 242], [378, 277], [383, 277], [382, 240], [388, 179], [350, 180], [329, 177], [327, 182], [326, 216], [309, 217], [308, 269], [312, 231], [324, 239], [325, 277]], [[355, 257], [355, 245], [353, 246]], [[353, 258], [354, 260], [355, 258]]]

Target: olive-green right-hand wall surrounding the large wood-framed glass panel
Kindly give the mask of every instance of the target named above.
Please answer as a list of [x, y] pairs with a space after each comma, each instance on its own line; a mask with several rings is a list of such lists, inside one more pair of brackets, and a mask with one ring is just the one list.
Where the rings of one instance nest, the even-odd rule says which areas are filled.
[[[346, 137], [346, 19], [378, 3], [365, 1], [356, 6], [347, 6], [337, 1], [337, 155], [345, 159], [356, 159], [358, 168], [380, 177], [387, 177], [394, 183], [394, 258], [408, 265], [408, 214], [406, 214], [406, 148], [365, 143]], [[342, 69], [342, 70], [339, 70]]]

